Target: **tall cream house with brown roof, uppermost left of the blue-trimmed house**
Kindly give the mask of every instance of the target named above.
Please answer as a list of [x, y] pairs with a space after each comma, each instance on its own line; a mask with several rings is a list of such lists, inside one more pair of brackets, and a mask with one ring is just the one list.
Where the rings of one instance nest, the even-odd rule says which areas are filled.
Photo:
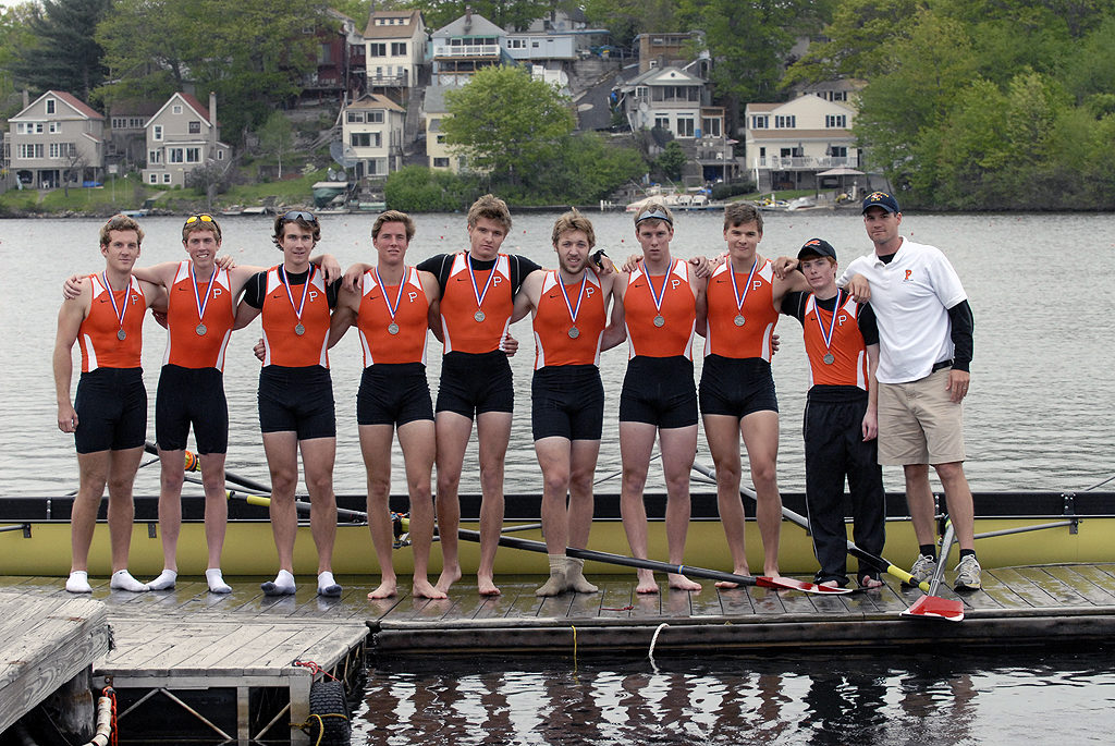
[[398, 89], [421, 83], [428, 43], [421, 11], [372, 11], [363, 30], [365, 89], [405, 100]]

